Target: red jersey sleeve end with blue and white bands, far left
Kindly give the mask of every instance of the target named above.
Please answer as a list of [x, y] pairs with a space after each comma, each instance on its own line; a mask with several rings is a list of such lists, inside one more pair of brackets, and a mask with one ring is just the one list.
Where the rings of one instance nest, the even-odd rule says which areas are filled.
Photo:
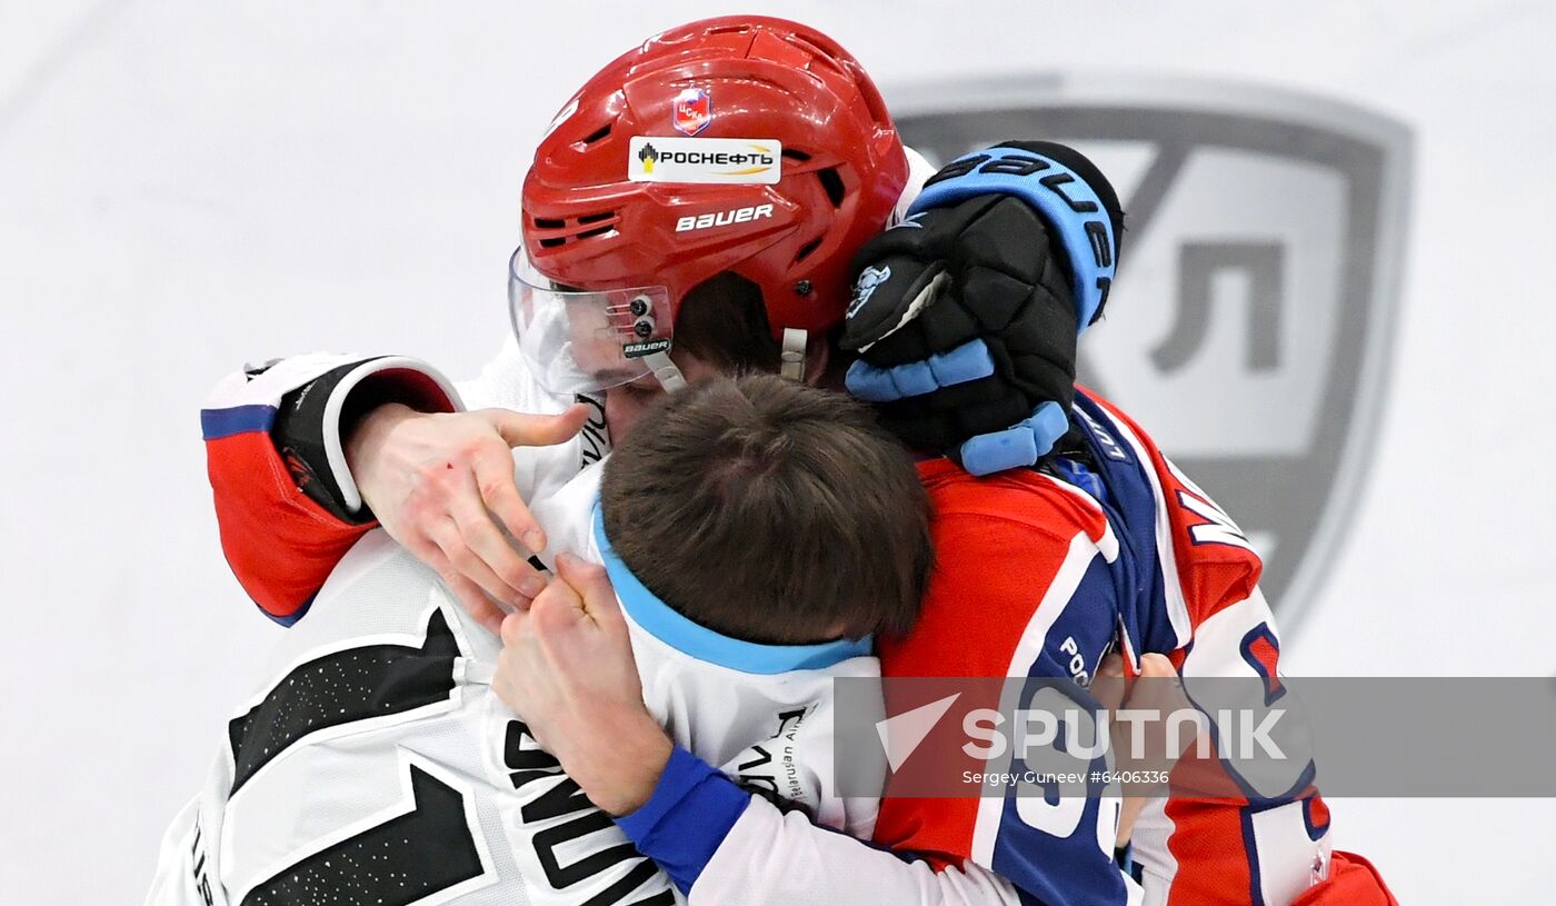
[[[423, 411], [461, 408], [423, 363], [303, 355], [229, 375], [201, 411], [223, 553], [249, 598], [283, 626], [302, 618], [345, 551], [378, 525], [349, 515], [359, 498], [339, 437], [345, 397], [367, 386]], [[274, 434], [282, 411], [305, 437]], [[336, 501], [341, 487], [355, 504]]]

